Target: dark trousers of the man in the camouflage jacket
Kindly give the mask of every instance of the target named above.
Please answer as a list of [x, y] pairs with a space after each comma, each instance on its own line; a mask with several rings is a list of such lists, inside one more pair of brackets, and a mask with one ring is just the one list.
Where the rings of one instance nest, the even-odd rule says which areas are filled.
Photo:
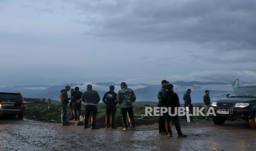
[[135, 124], [134, 124], [134, 118], [133, 118], [133, 107], [121, 108], [123, 127], [127, 127], [127, 113], [128, 113], [129, 123], [132, 127], [134, 127]]

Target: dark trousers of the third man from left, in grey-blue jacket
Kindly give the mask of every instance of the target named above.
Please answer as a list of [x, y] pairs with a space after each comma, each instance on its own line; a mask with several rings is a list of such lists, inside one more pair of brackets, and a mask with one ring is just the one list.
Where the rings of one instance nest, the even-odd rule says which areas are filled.
[[84, 114], [84, 126], [88, 126], [88, 119], [91, 115], [91, 127], [95, 127], [95, 120], [97, 115], [97, 106], [94, 105], [85, 105], [85, 114]]

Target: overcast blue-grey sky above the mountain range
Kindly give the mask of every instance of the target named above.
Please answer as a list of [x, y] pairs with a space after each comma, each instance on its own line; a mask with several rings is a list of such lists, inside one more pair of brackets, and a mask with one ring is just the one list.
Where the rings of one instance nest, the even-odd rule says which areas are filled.
[[0, 1], [0, 86], [256, 83], [256, 1]]

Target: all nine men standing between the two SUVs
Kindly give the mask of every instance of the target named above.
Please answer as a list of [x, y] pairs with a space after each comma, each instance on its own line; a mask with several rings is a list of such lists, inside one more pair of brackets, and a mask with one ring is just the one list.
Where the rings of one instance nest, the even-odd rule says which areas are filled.
[[[167, 80], [162, 80], [162, 86], [158, 93], [158, 106], [159, 107], [171, 107], [171, 111], [175, 111], [175, 107], [180, 107], [179, 97], [173, 91], [173, 85], [167, 82]], [[67, 92], [70, 90], [70, 98]], [[191, 89], [188, 89], [183, 96], [184, 106], [189, 108], [190, 112], [193, 112], [193, 105], [190, 97]], [[85, 92], [80, 92], [78, 87], [75, 89], [70, 89], [70, 86], [66, 86], [65, 89], [61, 91], [61, 106], [62, 106], [62, 125], [69, 126], [67, 121], [67, 106], [70, 100], [70, 108], [72, 109], [71, 115], [73, 120], [79, 120], [78, 117], [81, 115], [81, 102], [85, 103], [85, 114], [84, 114], [84, 129], [88, 128], [88, 120], [91, 121], [91, 129], [97, 129], [95, 120], [97, 115], [97, 103], [100, 102], [100, 96], [97, 91], [92, 90], [92, 85], [88, 84], [86, 86]], [[115, 86], [111, 85], [110, 90], [105, 93], [102, 101], [106, 104], [106, 128], [111, 127], [115, 129], [115, 114], [116, 105], [119, 104], [121, 108], [122, 124], [123, 130], [127, 130], [128, 123], [131, 129], [134, 129], [134, 117], [133, 117], [133, 102], [135, 102], [136, 96], [132, 89], [129, 89], [127, 84], [121, 83], [121, 90], [118, 94], [115, 92]], [[210, 106], [209, 90], [205, 91], [204, 103], [206, 107]], [[127, 117], [129, 122], [127, 123]], [[175, 124], [176, 130], [178, 132], [178, 137], [187, 137], [181, 131], [181, 125], [179, 124], [179, 117], [170, 116], [165, 113], [164, 116], [159, 117], [159, 133], [167, 133], [169, 137], [172, 137], [171, 121]]]

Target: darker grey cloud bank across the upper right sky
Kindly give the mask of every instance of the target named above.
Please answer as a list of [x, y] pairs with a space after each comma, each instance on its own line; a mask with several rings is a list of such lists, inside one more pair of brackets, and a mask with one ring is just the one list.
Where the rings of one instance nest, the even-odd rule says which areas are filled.
[[132, 42], [202, 43], [255, 50], [255, 1], [77, 1], [95, 16], [86, 35]]

